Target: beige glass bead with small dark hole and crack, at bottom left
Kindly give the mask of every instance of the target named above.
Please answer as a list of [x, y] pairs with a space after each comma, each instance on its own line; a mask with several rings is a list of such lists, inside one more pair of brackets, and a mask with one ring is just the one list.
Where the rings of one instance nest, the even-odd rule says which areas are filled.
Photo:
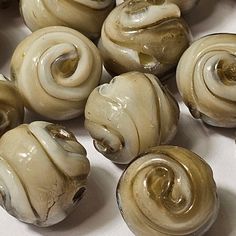
[[37, 226], [63, 220], [86, 190], [85, 149], [63, 127], [21, 125], [0, 139], [0, 205]]

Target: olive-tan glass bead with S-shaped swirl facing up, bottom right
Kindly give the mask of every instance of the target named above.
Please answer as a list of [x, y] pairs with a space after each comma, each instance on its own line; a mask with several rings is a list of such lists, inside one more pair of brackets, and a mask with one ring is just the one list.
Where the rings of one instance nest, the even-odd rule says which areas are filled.
[[219, 208], [211, 168], [174, 146], [153, 148], [132, 162], [119, 181], [117, 201], [138, 236], [203, 235]]

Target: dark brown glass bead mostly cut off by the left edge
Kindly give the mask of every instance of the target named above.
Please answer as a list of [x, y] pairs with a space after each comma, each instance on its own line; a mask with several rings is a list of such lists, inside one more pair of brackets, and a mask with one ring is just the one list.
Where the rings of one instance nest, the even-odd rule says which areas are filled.
[[24, 106], [14, 84], [0, 74], [0, 136], [21, 124]]

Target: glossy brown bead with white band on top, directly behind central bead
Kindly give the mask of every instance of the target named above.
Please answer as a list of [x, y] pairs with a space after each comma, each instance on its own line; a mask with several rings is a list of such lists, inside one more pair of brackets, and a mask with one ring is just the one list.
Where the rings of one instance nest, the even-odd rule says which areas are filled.
[[162, 78], [175, 69], [189, 41], [177, 5], [129, 0], [109, 14], [98, 46], [111, 74], [140, 71]]

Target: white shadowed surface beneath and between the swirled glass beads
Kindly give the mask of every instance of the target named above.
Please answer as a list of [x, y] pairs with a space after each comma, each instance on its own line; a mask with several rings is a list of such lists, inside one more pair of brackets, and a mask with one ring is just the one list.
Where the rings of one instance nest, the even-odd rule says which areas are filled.
[[[193, 38], [210, 33], [236, 33], [235, 0], [200, 0], [185, 17]], [[17, 44], [30, 31], [24, 26], [17, 9], [17, 2], [0, 10], [0, 73], [9, 75], [9, 61]], [[170, 90], [179, 101], [181, 117], [176, 137], [171, 142], [188, 148], [210, 164], [220, 198], [219, 216], [207, 236], [236, 235], [236, 129], [213, 128], [194, 120], [182, 103], [174, 80], [168, 82]], [[42, 119], [27, 113], [25, 122]], [[91, 163], [88, 190], [79, 207], [63, 222], [49, 228], [27, 225], [8, 215], [0, 208], [0, 235], [8, 236], [131, 236], [123, 221], [115, 197], [115, 190], [122, 168], [104, 158], [93, 147], [92, 139], [83, 127], [83, 118], [63, 124], [75, 132], [87, 149]]]

